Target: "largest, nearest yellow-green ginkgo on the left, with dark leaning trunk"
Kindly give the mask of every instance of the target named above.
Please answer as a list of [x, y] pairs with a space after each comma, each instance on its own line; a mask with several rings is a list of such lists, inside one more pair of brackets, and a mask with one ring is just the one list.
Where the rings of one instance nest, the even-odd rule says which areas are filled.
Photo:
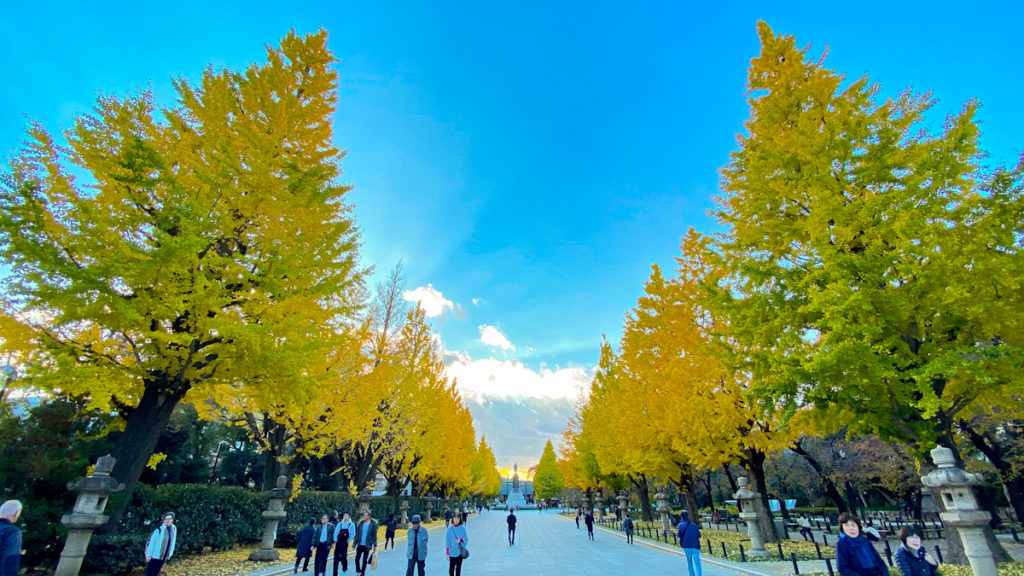
[[124, 417], [128, 492], [186, 394], [311, 398], [349, 335], [364, 275], [334, 64], [325, 32], [292, 33], [176, 80], [172, 107], [101, 96], [66, 146], [34, 126], [0, 180], [3, 346], [34, 384]]

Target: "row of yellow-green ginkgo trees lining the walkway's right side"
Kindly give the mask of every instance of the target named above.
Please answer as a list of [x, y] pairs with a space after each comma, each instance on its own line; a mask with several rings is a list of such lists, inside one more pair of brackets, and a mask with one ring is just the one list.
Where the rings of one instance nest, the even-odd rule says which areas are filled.
[[1020, 516], [1024, 163], [983, 165], [977, 102], [928, 129], [929, 94], [882, 100], [759, 33], [722, 228], [689, 231], [603, 343], [567, 484], [665, 479], [694, 509], [693, 470], [734, 463], [766, 498], [767, 455], [846, 426], [983, 455]]

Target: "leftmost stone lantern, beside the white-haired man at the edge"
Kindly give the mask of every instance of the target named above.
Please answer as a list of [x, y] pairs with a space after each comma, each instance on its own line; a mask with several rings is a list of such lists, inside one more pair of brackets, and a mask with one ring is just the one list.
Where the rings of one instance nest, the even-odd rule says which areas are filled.
[[92, 531], [106, 524], [109, 518], [103, 513], [106, 500], [115, 492], [124, 490], [125, 485], [111, 478], [117, 459], [110, 454], [96, 461], [92, 475], [69, 482], [68, 490], [78, 492], [78, 500], [70, 515], [60, 519], [60, 524], [68, 527], [68, 540], [60, 552], [55, 576], [76, 576], [82, 568], [82, 560], [89, 548]]

